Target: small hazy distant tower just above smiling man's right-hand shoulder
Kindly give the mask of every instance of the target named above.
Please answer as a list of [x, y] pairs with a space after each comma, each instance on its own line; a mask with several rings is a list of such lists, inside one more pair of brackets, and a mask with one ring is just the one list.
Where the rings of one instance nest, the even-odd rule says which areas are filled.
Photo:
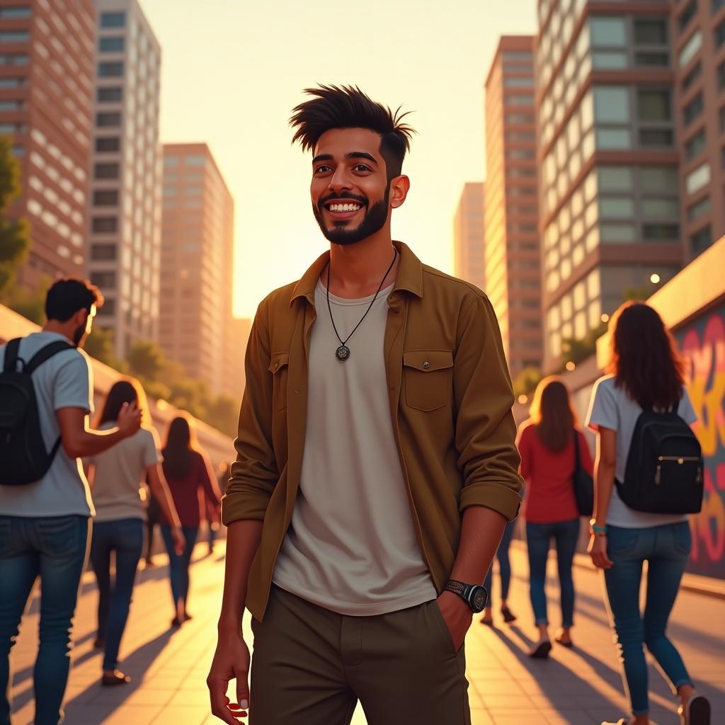
[[465, 183], [453, 217], [455, 276], [485, 289], [484, 184]]

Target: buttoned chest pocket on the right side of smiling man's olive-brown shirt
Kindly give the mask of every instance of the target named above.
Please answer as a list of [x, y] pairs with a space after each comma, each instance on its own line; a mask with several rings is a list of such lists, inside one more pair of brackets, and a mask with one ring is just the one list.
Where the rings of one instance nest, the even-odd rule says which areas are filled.
[[436, 410], [452, 394], [453, 353], [450, 350], [405, 350], [405, 402], [415, 410]]

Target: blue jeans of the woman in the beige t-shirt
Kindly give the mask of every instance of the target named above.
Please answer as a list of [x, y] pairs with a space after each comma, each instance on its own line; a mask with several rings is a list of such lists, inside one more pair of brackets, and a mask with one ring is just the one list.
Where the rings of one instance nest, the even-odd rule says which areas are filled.
[[[98, 582], [98, 637], [106, 642], [104, 670], [118, 665], [118, 650], [128, 619], [136, 567], [144, 549], [144, 522], [140, 518], [94, 523], [91, 566]], [[111, 584], [111, 552], [116, 553], [116, 579]]]

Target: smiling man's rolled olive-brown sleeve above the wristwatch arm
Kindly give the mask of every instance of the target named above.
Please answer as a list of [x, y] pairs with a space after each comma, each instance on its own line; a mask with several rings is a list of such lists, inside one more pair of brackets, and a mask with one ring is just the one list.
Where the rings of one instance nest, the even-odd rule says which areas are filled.
[[486, 297], [476, 298], [460, 315], [453, 386], [455, 441], [463, 471], [460, 510], [486, 506], [513, 521], [523, 487], [513, 387], [498, 321]]

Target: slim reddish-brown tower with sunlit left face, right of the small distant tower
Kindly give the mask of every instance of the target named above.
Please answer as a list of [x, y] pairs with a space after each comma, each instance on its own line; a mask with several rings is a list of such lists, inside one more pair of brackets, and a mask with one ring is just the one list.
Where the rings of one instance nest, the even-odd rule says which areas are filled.
[[534, 38], [504, 36], [486, 78], [486, 293], [513, 377], [542, 364]]

